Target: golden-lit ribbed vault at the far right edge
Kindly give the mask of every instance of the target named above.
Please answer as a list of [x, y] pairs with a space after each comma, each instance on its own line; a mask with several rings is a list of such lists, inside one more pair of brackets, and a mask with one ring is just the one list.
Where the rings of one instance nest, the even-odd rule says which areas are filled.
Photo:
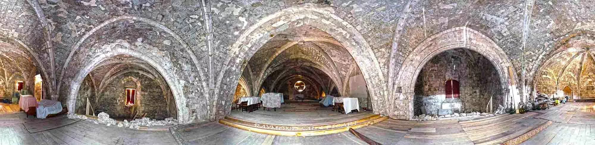
[[[595, 97], [593, 90], [588, 89], [595, 86], [593, 43], [593, 37], [575, 36], [558, 45], [538, 71], [536, 91], [550, 96], [568, 95], [572, 99]], [[571, 92], [563, 93], [565, 87]]]

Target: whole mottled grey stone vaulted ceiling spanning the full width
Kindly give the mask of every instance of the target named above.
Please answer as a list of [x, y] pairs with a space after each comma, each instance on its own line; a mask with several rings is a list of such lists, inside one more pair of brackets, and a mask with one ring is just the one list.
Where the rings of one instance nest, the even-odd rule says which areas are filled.
[[[407, 119], [411, 98], [402, 90], [410, 89], [398, 83], [399, 74], [415, 71], [403, 67], [408, 60], [429, 54], [414, 53], [425, 52], [418, 46], [490, 48], [482, 55], [491, 59], [497, 52], [494, 60], [503, 61], [497, 70], [513, 76], [502, 81], [518, 84], [512, 96], [528, 96], [521, 86], [536, 84], [542, 70], [574, 77], [592, 72], [592, 55], [579, 48], [593, 48], [594, 8], [593, 1], [534, 0], [0, 0], [0, 41], [10, 44], [2, 47], [27, 54], [0, 51], [6, 55], [0, 61], [21, 66], [5, 72], [39, 71], [44, 94], [74, 108], [67, 101], [76, 98], [73, 90], [90, 65], [134, 56], [170, 82], [181, 122], [229, 114], [227, 100], [240, 77], [256, 92], [275, 83], [265, 80], [311, 73], [346, 92], [347, 78], [361, 73], [374, 112]], [[281, 66], [306, 71], [283, 73]]]

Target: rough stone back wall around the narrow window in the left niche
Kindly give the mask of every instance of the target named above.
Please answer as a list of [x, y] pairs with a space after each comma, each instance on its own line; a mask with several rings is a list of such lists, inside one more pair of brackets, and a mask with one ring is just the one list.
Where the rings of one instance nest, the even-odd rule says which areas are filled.
[[[134, 106], [125, 106], [126, 88], [137, 89]], [[139, 112], [140, 115], [146, 113], [152, 119], [164, 119], [170, 117], [165, 97], [161, 87], [152, 78], [126, 73], [109, 82], [99, 93], [96, 112], [106, 112], [114, 118], [129, 118], [133, 112]]]

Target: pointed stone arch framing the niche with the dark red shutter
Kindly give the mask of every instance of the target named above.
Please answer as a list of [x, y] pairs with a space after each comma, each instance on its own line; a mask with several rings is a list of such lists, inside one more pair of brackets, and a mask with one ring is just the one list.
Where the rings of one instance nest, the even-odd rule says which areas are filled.
[[[441, 52], [455, 48], [471, 49], [485, 56], [494, 65], [497, 74], [499, 74], [500, 84], [503, 90], [502, 93], [509, 95], [518, 93], [516, 85], [513, 85], [518, 83], [512, 83], [510, 78], [516, 74], [509, 74], [509, 72], [515, 71], [513, 71], [508, 55], [502, 51], [502, 48], [480, 31], [469, 29], [468, 27], [455, 27], [428, 37], [419, 43], [409, 53], [410, 55], [405, 58], [399, 73], [396, 75], [395, 92], [391, 93], [394, 94], [391, 96], [391, 100], [395, 100], [392, 106], [393, 108], [391, 108], [391, 117], [397, 119], [412, 118], [414, 115], [414, 89], [419, 72], [431, 58]], [[506, 98], [505, 105], [510, 102], [515, 102], [512, 104], [518, 104], [520, 102], [520, 96], [518, 94], [513, 95], [513, 100], [509, 100], [509, 97]]]

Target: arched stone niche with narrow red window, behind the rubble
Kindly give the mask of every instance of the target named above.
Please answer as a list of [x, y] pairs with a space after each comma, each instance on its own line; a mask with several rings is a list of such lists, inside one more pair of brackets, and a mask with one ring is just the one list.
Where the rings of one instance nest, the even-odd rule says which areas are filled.
[[129, 121], [135, 115], [158, 120], [177, 118], [168, 81], [151, 64], [129, 55], [115, 55], [92, 67], [80, 83], [75, 112], [105, 112], [110, 118]]

